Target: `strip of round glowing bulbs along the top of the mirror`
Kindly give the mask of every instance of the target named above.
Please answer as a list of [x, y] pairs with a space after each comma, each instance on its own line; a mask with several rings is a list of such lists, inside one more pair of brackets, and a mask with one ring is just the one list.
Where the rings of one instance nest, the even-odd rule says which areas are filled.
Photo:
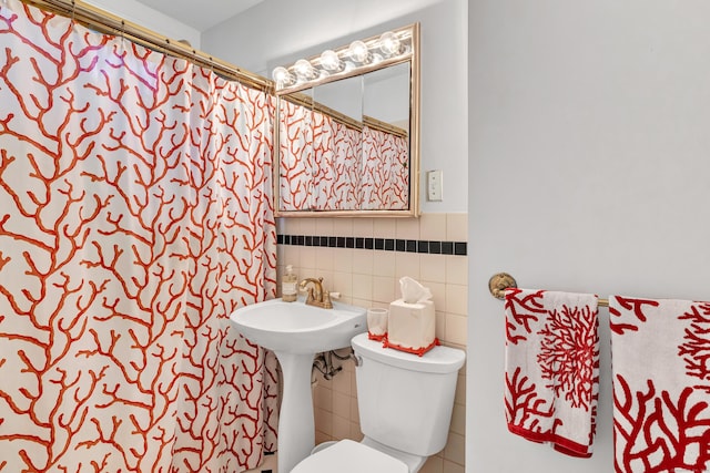
[[413, 31], [405, 27], [336, 50], [300, 59], [294, 64], [273, 70], [276, 94], [298, 92], [312, 86], [369, 72], [382, 65], [396, 64], [412, 58]]

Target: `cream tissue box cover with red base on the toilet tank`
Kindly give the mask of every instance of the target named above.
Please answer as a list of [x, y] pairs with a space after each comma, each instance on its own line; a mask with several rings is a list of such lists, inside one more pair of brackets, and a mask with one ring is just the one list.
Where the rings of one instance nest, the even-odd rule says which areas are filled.
[[434, 302], [408, 304], [397, 299], [389, 304], [385, 347], [423, 356], [438, 345], [435, 337]]

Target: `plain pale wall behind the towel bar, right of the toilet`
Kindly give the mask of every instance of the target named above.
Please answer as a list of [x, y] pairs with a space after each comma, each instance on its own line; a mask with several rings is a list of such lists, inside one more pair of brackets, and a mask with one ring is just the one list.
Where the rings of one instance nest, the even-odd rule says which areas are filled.
[[506, 431], [493, 274], [710, 298], [708, 18], [702, 0], [470, 2], [467, 472], [613, 471], [607, 309], [596, 452], [574, 460]]

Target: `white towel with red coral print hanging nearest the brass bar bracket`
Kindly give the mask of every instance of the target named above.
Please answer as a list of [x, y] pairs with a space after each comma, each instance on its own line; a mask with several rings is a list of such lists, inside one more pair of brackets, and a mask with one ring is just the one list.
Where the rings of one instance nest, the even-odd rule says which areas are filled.
[[599, 395], [597, 296], [506, 290], [510, 432], [591, 456]]

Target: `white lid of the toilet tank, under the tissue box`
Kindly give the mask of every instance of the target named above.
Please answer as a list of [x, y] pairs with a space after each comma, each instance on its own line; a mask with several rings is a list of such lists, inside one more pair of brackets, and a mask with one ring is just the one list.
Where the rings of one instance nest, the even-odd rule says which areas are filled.
[[355, 336], [351, 343], [356, 354], [412, 371], [450, 373], [463, 367], [466, 359], [464, 350], [450, 347], [434, 347], [422, 357], [384, 348], [381, 341], [367, 338], [367, 332]]

